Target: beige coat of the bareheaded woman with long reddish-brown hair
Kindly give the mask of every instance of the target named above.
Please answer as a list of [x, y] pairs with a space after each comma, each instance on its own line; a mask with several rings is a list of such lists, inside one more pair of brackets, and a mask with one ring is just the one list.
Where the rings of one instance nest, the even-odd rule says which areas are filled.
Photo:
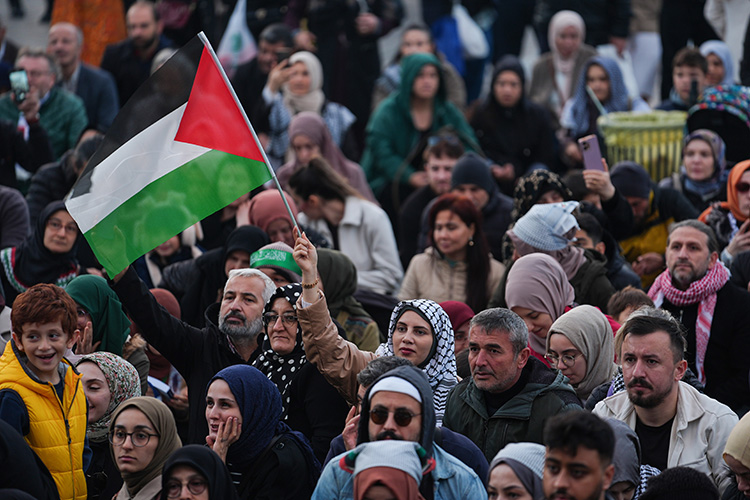
[[[437, 303], [446, 300], [466, 302], [466, 263], [451, 266], [432, 247], [415, 255], [404, 276], [399, 300], [430, 299]], [[490, 274], [487, 276], [487, 300], [497, 288], [505, 274], [505, 266], [490, 258]]]

